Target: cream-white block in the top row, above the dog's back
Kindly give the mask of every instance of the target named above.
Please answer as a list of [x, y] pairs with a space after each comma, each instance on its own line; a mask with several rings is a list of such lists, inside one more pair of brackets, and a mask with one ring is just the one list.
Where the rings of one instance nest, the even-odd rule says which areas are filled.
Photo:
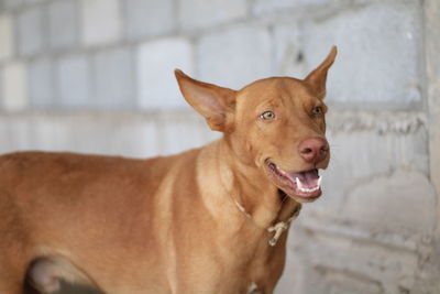
[[121, 37], [121, 7], [118, 0], [81, 0], [82, 42], [102, 45]]

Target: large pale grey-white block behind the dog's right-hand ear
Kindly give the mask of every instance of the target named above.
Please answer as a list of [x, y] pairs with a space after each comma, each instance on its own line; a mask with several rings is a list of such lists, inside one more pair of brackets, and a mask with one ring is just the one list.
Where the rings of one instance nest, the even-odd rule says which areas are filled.
[[420, 102], [420, 9], [415, 1], [376, 2], [307, 25], [308, 67], [321, 61], [331, 45], [339, 46], [329, 75], [329, 101], [393, 108]]

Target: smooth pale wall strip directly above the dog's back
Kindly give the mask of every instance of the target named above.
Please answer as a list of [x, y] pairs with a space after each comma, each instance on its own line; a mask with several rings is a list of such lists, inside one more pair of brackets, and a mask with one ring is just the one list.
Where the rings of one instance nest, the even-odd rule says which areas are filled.
[[219, 137], [198, 115], [187, 111], [150, 116], [29, 112], [0, 117], [0, 153], [68, 150], [146, 157], [180, 152]]

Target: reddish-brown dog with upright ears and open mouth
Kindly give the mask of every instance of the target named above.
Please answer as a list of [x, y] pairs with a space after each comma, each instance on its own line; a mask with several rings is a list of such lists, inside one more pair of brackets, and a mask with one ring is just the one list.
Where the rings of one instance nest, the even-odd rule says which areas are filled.
[[300, 203], [321, 195], [327, 72], [235, 91], [176, 70], [217, 142], [150, 160], [0, 157], [0, 293], [57, 277], [113, 294], [272, 293]]

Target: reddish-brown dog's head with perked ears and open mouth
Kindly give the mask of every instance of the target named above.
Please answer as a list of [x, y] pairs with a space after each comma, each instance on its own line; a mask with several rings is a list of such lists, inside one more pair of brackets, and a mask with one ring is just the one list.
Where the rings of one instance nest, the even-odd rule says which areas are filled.
[[324, 115], [328, 57], [305, 79], [272, 77], [232, 90], [195, 80], [180, 70], [176, 77], [185, 99], [212, 130], [221, 131], [248, 165], [297, 202], [321, 195], [319, 168], [326, 168], [330, 148]]

